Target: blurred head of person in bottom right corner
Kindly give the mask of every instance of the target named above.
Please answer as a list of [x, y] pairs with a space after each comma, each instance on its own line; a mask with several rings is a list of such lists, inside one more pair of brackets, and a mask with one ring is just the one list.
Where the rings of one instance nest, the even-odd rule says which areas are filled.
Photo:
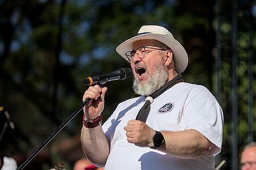
[[256, 170], [256, 142], [245, 146], [240, 163], [241, 170]]

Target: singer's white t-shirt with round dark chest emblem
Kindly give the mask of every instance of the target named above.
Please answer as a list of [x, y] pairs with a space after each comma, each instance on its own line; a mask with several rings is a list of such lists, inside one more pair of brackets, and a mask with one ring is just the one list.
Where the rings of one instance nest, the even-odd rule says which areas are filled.
[[[214, 156], [199, 159], [179, 159], [149, 147], [127, 142], [123, 129], [127, 121], [135, 120], [145, 102], [136, 97], [118, 105], [102, 129], [110, 143], [105, 169], [214, 169]], [[223, 113], [214, 96], [203, 86], [179, 83], [154, 99], [146, 124], [157, 131], [195, 129], [221, 151]]]

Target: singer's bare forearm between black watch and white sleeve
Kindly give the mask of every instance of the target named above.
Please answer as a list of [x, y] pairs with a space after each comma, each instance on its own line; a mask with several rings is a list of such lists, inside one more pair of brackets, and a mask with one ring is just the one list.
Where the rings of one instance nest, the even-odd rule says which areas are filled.
[[181, 159], [196, 159], [211, 155], [213, 143], [197, 130], [162, 131], [164, 143], [158, 150]]

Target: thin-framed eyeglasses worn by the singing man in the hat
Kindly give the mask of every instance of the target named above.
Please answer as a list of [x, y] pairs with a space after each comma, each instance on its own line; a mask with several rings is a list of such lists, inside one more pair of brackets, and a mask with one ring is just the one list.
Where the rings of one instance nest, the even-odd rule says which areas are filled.
[[[150, 49], [153, 49], [153, 50], [148, 51], [145, 48], [150, 48]], [[127, 57], [128, 61], [132, 62], [133, 61], [133, 57], [134, 57], [135, 54], [137, 54], [137, 56], [142, 59], [142, 58], [146, 57], [146, 53], [150, 53], [150, 52], [152, 52], [154, 50], [165, 51], [167, 49], [159, 49], [159, 48], [152, 48], [152, 47], [148, 47], [148, 46], [141, 46], [141, 47], [137, 48], [136, 50], [132, 50], [132, 51], [126, 52], [125, 56]]]

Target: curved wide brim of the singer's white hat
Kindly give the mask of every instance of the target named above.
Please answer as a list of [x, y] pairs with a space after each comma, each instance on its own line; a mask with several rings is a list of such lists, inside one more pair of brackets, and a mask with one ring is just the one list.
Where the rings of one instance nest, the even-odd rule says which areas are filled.
[[134, 36], [131, 39], [128, 39], [124, 41], [122, 44], [118, 45], [116, 49], [117, 53], [123, 58], [125, 58], [127, 61], [129, 61], [125, 56], [125, 53], [129, 50], [132, 50], [133, 43], [138, 40], [157, 40], [163, 42], [163, 44], [166, 44], [172, 50], [172, 53], [174, 53], [175, 67], [177, 73], [182, 73], [187, 67], [188, 54], [183, 48], [183, 46], [174, 38], [158, 33], [145, 33], [142, 35]]

